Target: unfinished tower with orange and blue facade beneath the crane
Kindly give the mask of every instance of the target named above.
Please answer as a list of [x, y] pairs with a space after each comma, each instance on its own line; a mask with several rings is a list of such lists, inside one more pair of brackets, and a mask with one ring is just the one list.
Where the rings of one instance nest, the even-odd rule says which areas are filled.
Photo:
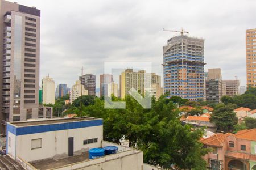
[[185, 35], [163, 46], [164, 92], [197, 101], [205, 97], [204, 40]]

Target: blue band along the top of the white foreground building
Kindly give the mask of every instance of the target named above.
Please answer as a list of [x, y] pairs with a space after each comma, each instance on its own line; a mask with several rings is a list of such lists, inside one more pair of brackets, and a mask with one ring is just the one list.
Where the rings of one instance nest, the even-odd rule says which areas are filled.
[[43, 133], [47, 131], [86, 128], [86, 127], [101, 126], [101, 125], [103, 125], [103, 120], [66, 122], [62, 124], [48, 124], [48, 125], [38, 125], [38, 126], [26, 126], [26, 127], [14, 127], [9, 125], [12, 128], [7, 129], [7, 132], [11, 131], [11, 133], [18, 136], [18, 135], [26, 135], [26, 134], [34, 134], [34, 133]]

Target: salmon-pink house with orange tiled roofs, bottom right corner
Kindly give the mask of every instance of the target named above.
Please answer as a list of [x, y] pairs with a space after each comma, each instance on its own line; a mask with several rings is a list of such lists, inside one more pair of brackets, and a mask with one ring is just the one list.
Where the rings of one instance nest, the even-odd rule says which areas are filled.
[[209, 169], [256, 169], [256, 129], [241, 130], [236, 134], [218, 133], [201, 139], [211, 152], [204, 156]]

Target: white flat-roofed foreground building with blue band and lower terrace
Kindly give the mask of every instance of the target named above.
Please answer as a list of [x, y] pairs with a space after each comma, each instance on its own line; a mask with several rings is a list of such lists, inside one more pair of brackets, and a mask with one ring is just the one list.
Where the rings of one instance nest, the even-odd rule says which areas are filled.
[[[102, 123], [93, 117], [10, 122], [7, 155], [24, 169], [158, 169], [143, 163], [142, 151], [103, 141]], [[117, 153], [89, 159], [89, 149], [105, 146], [117, 146]]]

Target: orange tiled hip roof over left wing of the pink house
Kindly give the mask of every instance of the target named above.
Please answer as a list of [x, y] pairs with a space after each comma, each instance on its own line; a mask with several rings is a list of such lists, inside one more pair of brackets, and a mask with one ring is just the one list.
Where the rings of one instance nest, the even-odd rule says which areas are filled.
[[217, 133], [209, 138], [201, 139], [200, 141], [206, 145], [223, 146], [226, 142], [226, 135], [223, 133]]

